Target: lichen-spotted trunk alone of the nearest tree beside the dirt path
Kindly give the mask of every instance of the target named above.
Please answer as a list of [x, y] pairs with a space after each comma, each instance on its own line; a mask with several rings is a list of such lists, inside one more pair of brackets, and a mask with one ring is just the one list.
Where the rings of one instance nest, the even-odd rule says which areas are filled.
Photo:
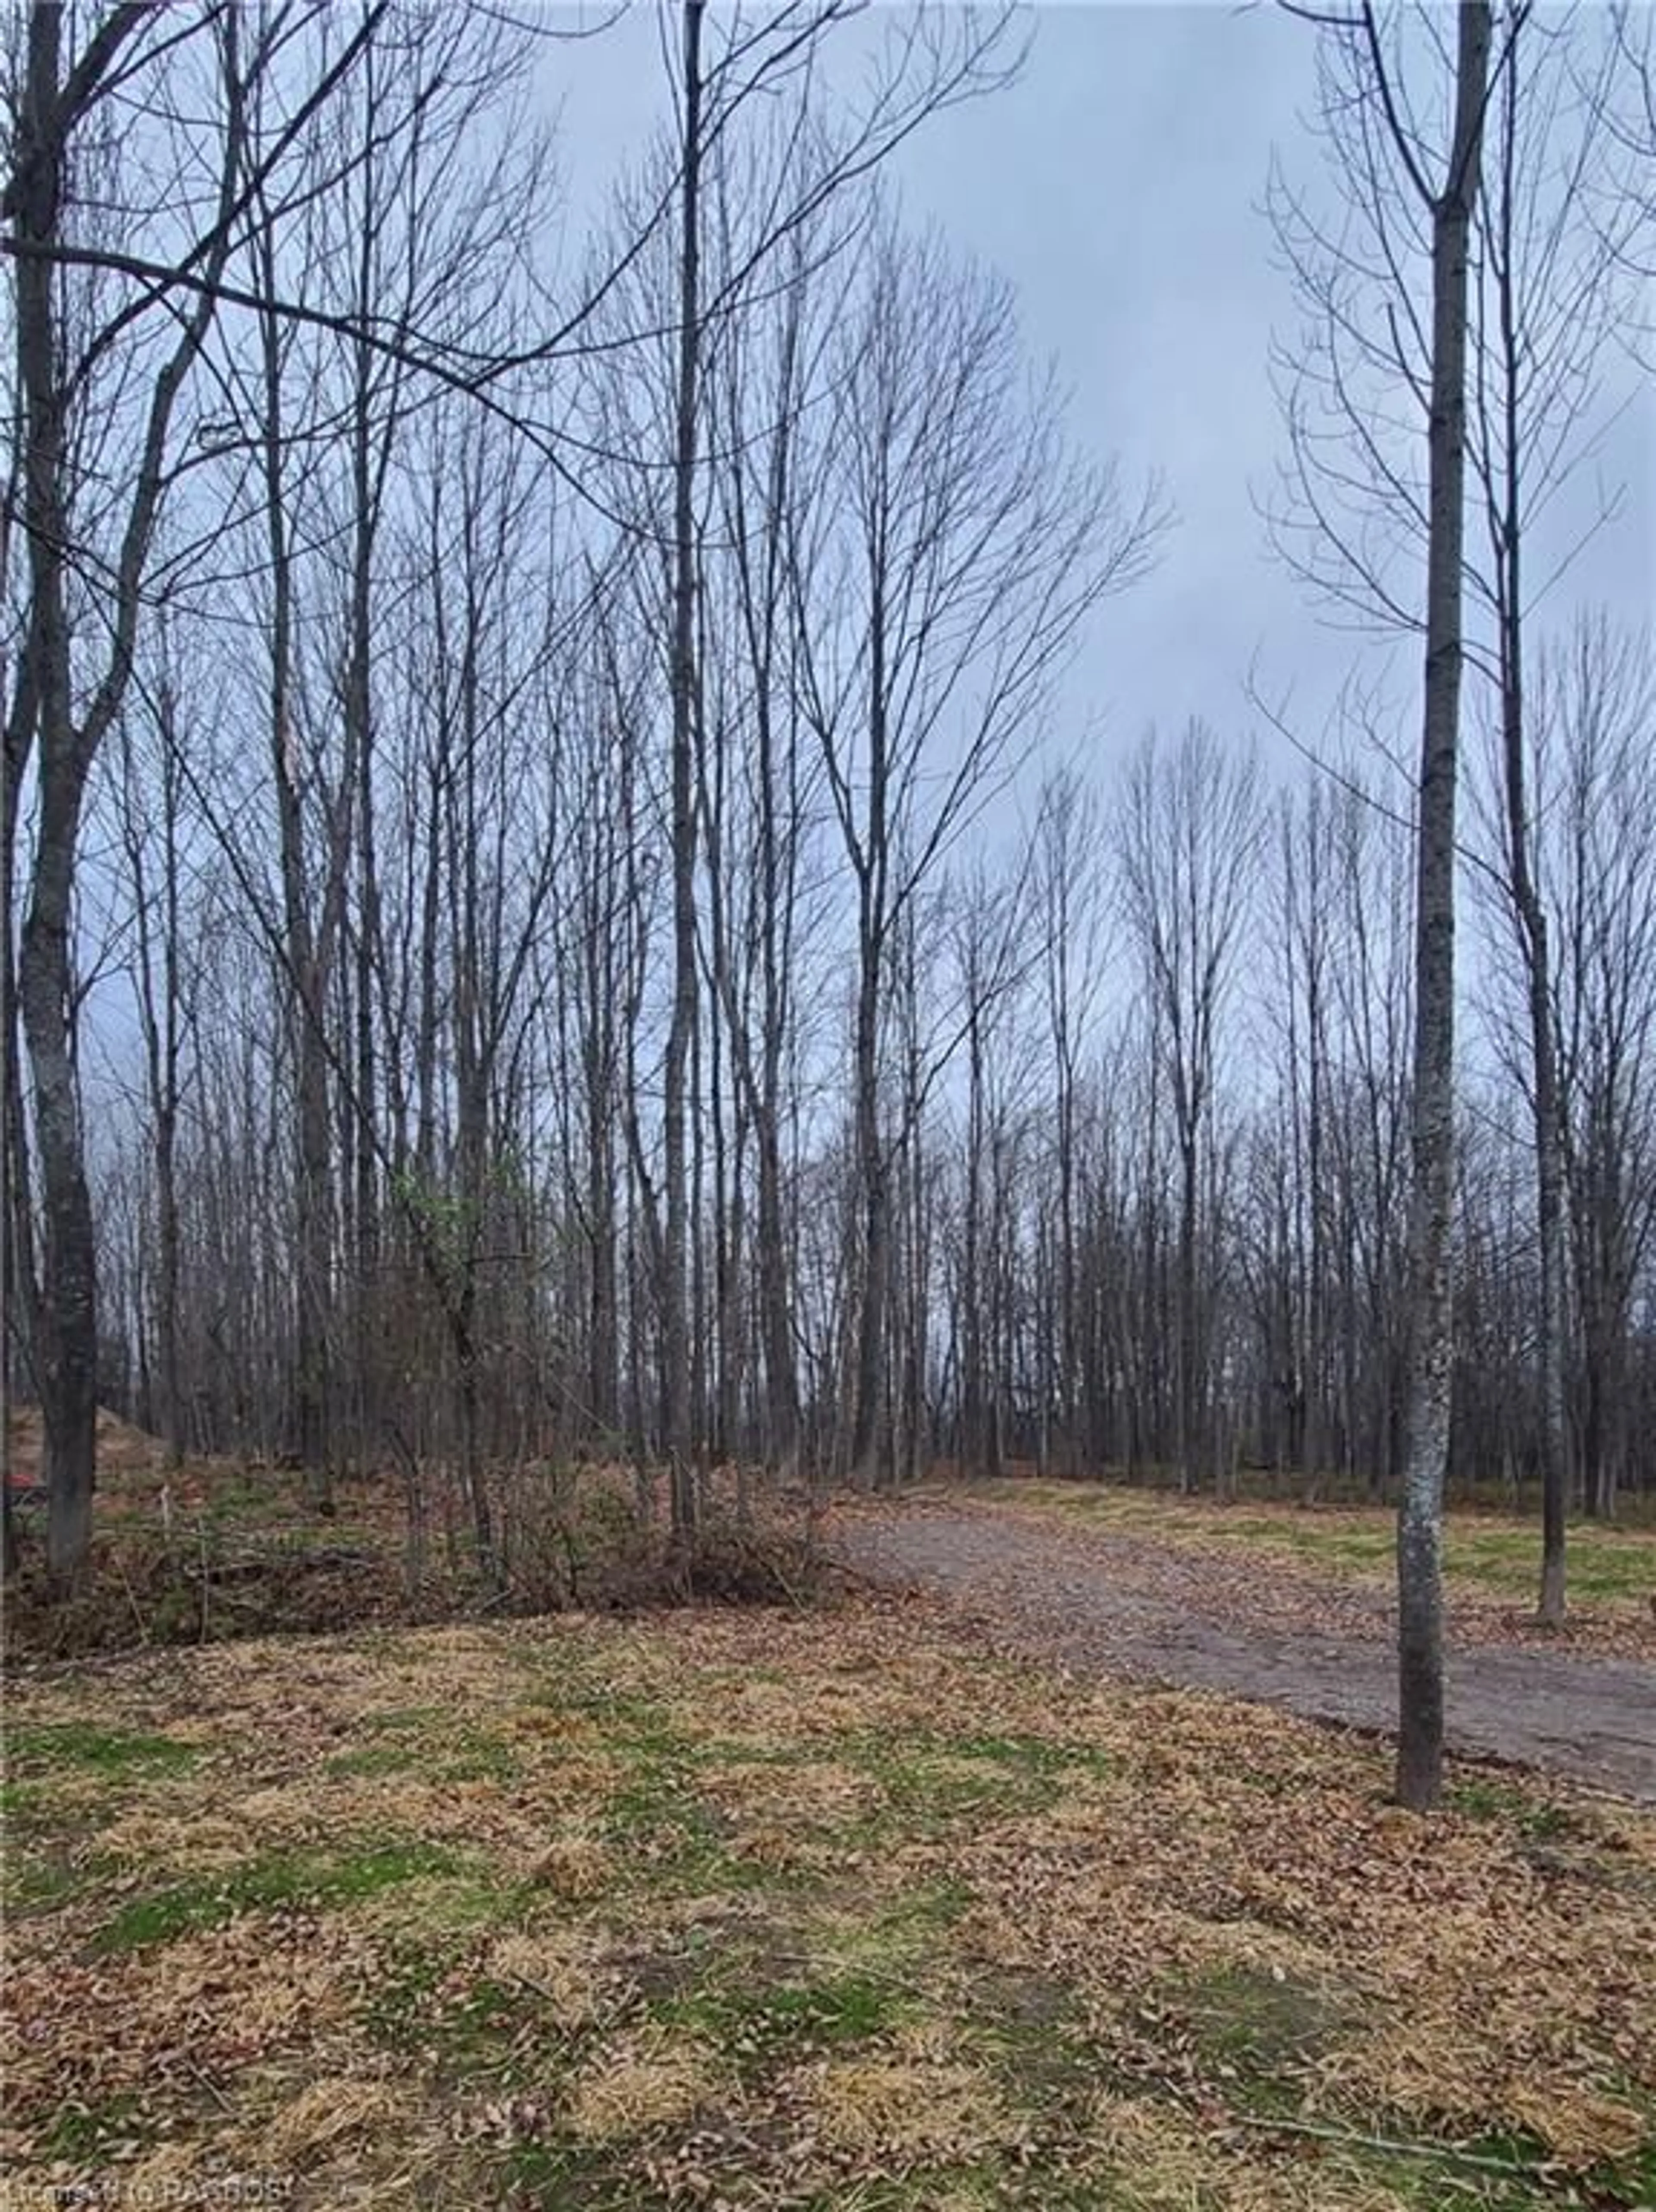
[[1433, 389], [1426, 699], [1415, 869], [1415, 1095], [1408, 1217], [1411, 1345], [1397, 1513], [1397, 1796], [1437, 1803], [1444, 1776], [1444, 1478], [1455, 1376], [1455, 781], [1461, 708], [1466, 263], [1490, 62], [1488, 0], [1461, 0], [1455, 137], [1433, 201]]

